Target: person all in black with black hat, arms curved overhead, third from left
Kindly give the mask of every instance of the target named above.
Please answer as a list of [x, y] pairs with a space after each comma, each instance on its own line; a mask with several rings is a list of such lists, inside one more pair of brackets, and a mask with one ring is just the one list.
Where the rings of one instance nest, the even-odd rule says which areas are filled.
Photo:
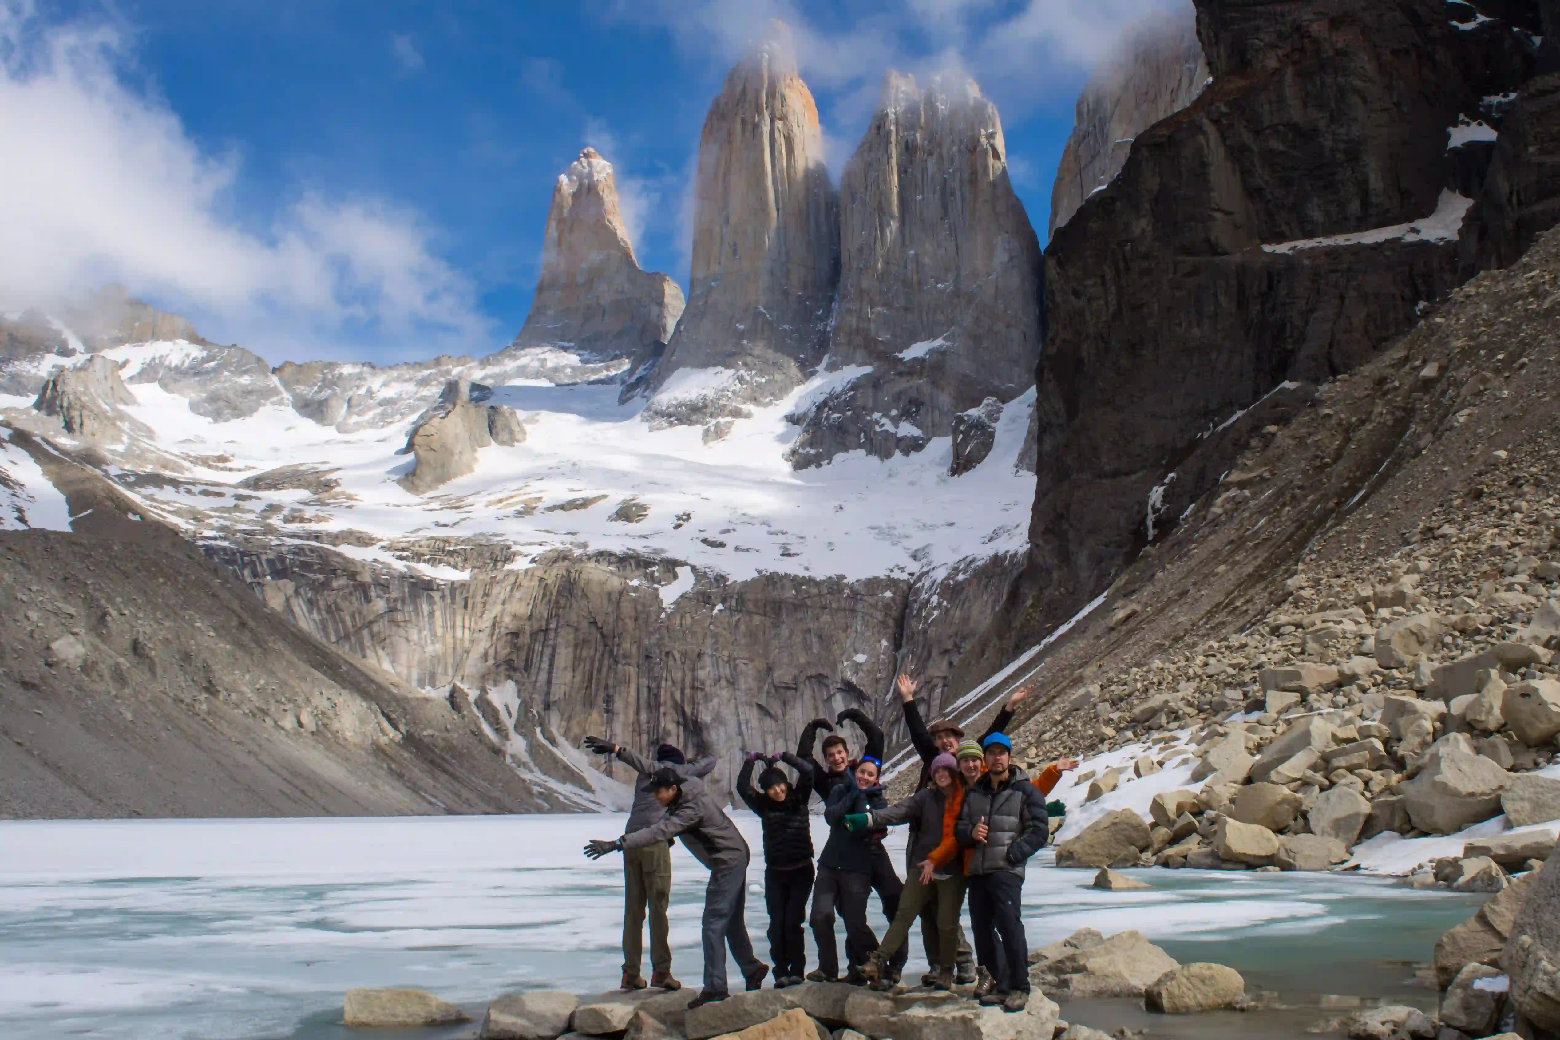
[[[775, 766], [796, 770], [796, 784]], [[753, 769], [758, 791], [752, 787]], [[760, 794], [763, 792], [763, 794]], [[769, 907], [769, 959], [775, 989], [800, 985], [807, 975], [807, 897], [813, 893], [813, 830], [807, 801], [813, 794], [813, 767], [789, 752], [778, 758], [749, 753], [736, 776], [736, 794], [764, 826], [764, 903]]]

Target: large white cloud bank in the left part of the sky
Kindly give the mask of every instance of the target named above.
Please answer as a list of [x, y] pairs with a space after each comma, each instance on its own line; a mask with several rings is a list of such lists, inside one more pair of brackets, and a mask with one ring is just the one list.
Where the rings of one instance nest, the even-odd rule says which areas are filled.
[[473, 287], [413, 214], [301, 192], [240, 225], [239, 159], [203, 151], [162, 100], [129, 86], [128, 59], [106, 23], [42, 25], [0, 0], [0, 307], [119, 281], [204, 315], [207, 335], [275, 331], [290, 357], [363, 338], [390, 352], [480, 346]]

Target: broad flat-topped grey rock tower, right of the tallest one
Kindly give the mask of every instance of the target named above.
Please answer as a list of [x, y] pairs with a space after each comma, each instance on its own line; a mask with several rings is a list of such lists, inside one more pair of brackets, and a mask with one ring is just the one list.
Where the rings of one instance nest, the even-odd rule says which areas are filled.
[[839, 186], [831, 368], [870, 368], [800, 418], [794, 465], [880, 458], [1025, 393], [1041, 349], [1041, 256], [1008, 179], [997, 108], [967, 78], [889, 73]]

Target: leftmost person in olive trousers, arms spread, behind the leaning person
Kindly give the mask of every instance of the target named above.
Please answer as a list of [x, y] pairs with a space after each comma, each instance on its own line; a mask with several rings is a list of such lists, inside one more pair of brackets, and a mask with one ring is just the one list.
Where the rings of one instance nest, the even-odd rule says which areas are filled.
[[[655, 748], [655, 761], [635, 755], [621, 744], [604, 741], [599, 736], [585, 738], [585, 747], [597, 755], [612, 755], [619, 762], [632, 769], [633, 806], [629, 809], [626, 831], [644, 830], [651, 823], [666, 815], [666, 809], [655, 800], [651, 789], [651, 778], [657, 770], [671, 769], [683, 780], [710, 775], [714, 769], [714, 755], [690, 764], [680, 750], [671, 744]], [[666, 906], [672, 897], [672, 850], [668, 842], [647, 845], [622, 856], [622, 989], [643, 990], [644, 976], [640, 975], [640, 962], [644, 957], [644, 914], [651, 917], [651, 981], [666, 990], [682, 989], [682, 982], [672, 978], [672, 946], [668, 940]]]

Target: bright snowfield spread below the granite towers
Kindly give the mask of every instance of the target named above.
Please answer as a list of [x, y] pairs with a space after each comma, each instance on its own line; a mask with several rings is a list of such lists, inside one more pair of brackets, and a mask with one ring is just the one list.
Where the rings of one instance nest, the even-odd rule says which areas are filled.
[[[640, 418], [643, 402], [619, 405], [616, 385], [516, 382], [496, 387], [488, 402], [521, 412], [526, 441], [482, 449], [474, 472], [418, 497], [395, 483], [412, 468], [412, 457], [398, 454], [410, 421], [340, 433], [290, 407], [270, 405], [215, 423], [158, 384], [129, 382], [153, 360], [198, 365], [201, 352], [189, 343], [108, 352], [122, 363], [137, 399], [126, 412], [154, 432], [159, 449], [189, 465], [184, 480], [209, 485], [139, 486], [136, 494], [195, 536], [254, 529], [259, 513], [271, 507], [273, 535], [301, 541], [346, 530], [381, 543], [498, 539], [516, 549], [518, 566], [566, 547], [658, 555], [736, 580], [766, 571], [850, 580], [911, 575], [1026, 544], [1034, 477], [1014, 465], [1033, 390], [1005, 409], [986, 462], [950, 477], [947, 437], [911, 457], [880, 462], [852, 452], [827, 466], [791, 469], [785, 455], [799, 427], [786, 416], [838, 390], [856, 370], [822, 373], [783, 401], [755, 409], [752, 418], [736, 419], [724, 440], [710, 444], [700, 427], [651, 430]], [[688, 374], [683, 390], [705, 388], [719, 376]], [[301, 490], [234, 486], [298, 465], [329, 471], [340, 480], [339, 491], [306, 501], [310, 494]], [[626, 501], [647, 508], [644, 519], [627, 522], [624, 513], [613, 519]], [[396, 563], [373, 547], [354, 555]], [[463, 574], [431, 577], [459, 580]]]

